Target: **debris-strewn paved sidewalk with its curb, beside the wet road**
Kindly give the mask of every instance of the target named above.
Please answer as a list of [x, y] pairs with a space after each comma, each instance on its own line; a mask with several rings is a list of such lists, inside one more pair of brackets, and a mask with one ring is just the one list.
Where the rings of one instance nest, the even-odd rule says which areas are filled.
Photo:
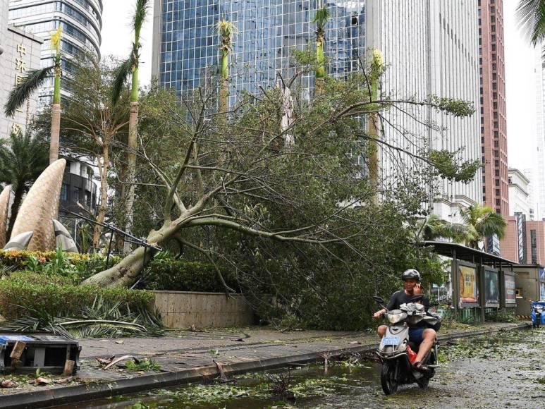
[[[476, 336], [521, 324], [484, 324], [441, 331], [439, 340]], [[233, 329], [206, 332], [180, 331], [162, 338], [87, 339], [80, 341], [81, 369], [68, 384], [0, 389], [0, 408], [44, 408], [76, 401], [162, 388], [227, 375], [312, 362], [324, 355], [336, 357], [376, 348], [372, 332], [290, 331]], [[161, 372], [134, 372], [111, 367], [101, 370], [94, 358], [134, 355], [149, 358]], [[215, 362], [214, 362], [215, 361]], [[60, 379], [60, 377], [54, 377]], [[21, 382], [22, 383], [22, 382]], [[70, 386], [67, 386], [70, 385]]]

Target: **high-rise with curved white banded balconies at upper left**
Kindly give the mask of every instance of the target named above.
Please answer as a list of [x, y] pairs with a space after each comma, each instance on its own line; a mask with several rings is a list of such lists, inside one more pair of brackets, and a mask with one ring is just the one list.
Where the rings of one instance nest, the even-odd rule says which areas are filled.
[[[52, 66], [55, 51], [51, 49], [51, 33], [62, 28], [61, 40], [63, 75], [70, 78], [73, 73], [71, 60], [83, 52], [100, 56], [102, 41], [102, 0], [10, 0], [9, 23], [44, 40], [42, 67]], [[39, 90], [42, 103], [53, 97], [53, 77]], [[61, 81], [61, 97], [69, 94], [67, 81]]]

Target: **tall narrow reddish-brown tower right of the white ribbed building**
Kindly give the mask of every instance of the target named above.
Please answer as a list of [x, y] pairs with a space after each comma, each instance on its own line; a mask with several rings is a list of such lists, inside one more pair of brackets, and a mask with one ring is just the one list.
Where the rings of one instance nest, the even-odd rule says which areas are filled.
[[479, 0], [479, 72], [482, 200], [509, 216], [503, 0]]

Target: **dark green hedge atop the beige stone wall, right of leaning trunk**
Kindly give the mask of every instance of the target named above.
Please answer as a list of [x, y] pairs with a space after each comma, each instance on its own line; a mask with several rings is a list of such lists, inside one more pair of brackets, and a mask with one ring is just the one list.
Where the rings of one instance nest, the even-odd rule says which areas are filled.
[[[228, 286], [234, 289], [238, 288], [232, 274], [224, 269], [221, 274]], [[214, 293], [225, 291], [213, 264], [162, 257], [149, 263], [145, 271], [145, 288], [148, 290]]]

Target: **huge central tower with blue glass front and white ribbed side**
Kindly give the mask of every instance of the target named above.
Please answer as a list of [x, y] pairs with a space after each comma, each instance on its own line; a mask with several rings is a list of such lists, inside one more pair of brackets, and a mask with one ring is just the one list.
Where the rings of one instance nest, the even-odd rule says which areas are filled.
[[[226, 18], [238, 26], [233, 44], [231, 102], [241, 90], [272, 87], [276, 73], [288, 78], [290, 49], [314, 44], [311, 0], [155, 0], [152, 73], [178, 94], [200, 84], [218, 59], [219, 37], [214, 26]], [[479, 28], [477, 0], [326, 1], [331, 18], [326, 25], [325, 53], [329, 75], [343, 78], [359, 68], [359, 57], [381, 49], [388, 64], [383, 92], [392, 97], [424, 99], [429, 94], [465, 99], [479, 106]], [[314, 75], [301, 85], [312, 91]], [[414, 150], [424, 145], [456, 151], [463, 160], [481, 160], [479, 115], [453, 118], [433, 109], [420, 118], [389, 114], [406, 133], [386, 126], [388, 142]], [[422, 122], [436, 123], [436, 129]], [[446, 129], [446, 130], [445, 130]], [[408, 136], [410, 135], [410, 136]], [[417, 135], [413, 138], [414, 135]], [[412, 139], [411, 139], [412, 138]], [[419, 139], [422, 138], [422, 139]], [[408, 157], [384, 149], [384, 178], [414, 166]], [[433, 211], [456, 221], [458, 208], [482, 202], [482, 174], [472, 183], [441, 181]]]

